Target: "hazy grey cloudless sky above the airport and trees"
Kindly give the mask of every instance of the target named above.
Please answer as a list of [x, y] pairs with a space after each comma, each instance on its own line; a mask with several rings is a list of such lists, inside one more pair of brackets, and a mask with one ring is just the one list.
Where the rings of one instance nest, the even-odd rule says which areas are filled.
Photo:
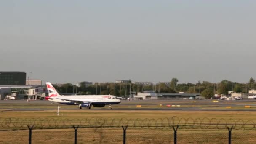
[[1, 0], [0, 70], [52, 83], [245, 83], [255, 13], [255, 0]]

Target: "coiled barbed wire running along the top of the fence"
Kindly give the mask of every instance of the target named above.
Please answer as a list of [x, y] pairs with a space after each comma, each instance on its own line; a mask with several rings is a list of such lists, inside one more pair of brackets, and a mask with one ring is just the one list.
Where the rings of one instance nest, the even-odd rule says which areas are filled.
[[241, 119], [216, 119], [216, 118], [0, 118], [0, 129], [27, 128], [27, 125], [34, 125], [34, 128], [70, 128], [72, 125], [80, 125], [84, 128], [117, 128], [128, 125], [129, 128], [172, 128], [179, 125], [179, 129], [226, 129], [234, 130], [256, 130], [256, 123], [252, 120]]

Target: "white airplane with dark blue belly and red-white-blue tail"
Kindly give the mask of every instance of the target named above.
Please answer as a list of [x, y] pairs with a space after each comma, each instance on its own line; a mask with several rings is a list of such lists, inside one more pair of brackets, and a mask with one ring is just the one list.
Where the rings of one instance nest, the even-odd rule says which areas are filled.
[[120, 99], [112, 95], [61, 96], [51, 83], [47, 82], [46, 85], [49, 93], [49, 96], [45, 97], [46, 100], [60, 104], [79, 105], [79, 109], [82, 109], [82, 107], [91, 109], [91, 106], [105, 107], [108, 104], [110, 105], [110, 109], [112, 109], [111, 104], [119, 104], [121, 102]]

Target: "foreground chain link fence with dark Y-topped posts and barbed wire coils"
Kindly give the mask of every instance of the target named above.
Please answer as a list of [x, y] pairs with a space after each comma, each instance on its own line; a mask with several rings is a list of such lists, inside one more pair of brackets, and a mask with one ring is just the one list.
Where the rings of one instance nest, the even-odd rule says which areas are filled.
[[[10, 121], [11, 120], [11, 121]], [[253, 121], [224, 119], [0, 119], [1, 144], [255, 144]], [[41, 119], [43, 120], [43, 119]], [[33, 123], [32, 123], [33, 121]], [[47, 125], [46, 123], [47, 122]], [[50, 123], [51, 122], [51, 123]], [[52, 123], [54, 122], [54, 124]], [[83, 123], [82, 123], [83, 122]], [[79, 125], [72, 125], [72, 124]], [[32, 125], [25, 125], [32, 124]], [[63, 124], [63, 125], [61, 125]], [[83, 125], [81, 125], [83, 124]], [[176, 125], [173, 125], [176, 124]], [[25, 127], [26, 126], [26, 127]]]

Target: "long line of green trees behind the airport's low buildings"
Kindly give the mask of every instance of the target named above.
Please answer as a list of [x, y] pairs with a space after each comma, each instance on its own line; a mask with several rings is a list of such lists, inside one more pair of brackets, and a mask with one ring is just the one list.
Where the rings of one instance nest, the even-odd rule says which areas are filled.
[[152, 85], [142, 85], [133, 83], [94, 83], [87, 85], [81, 82], [80, 86], [71, 83], [53, 85], [59, 93], [77, 93], [77, 95], [102, 94], [114, 96], [128, 96], [130, 89], [133, 92], [155, 91], [155, 93], [200, 93], [201, 96], [209, 99], [214, 94], [227, 95], [228, 91], [235, 93], [248, 93], [249, 90], [255, 89], [255, 80], [250, 78], [248, 83], [237, 83], [229, 80], [222, 80], [219, 83], [208, 81], [198, 81], [197, 83], [178, 83], [177, 78], [172, 78], [169, 85], [157, 83]]

